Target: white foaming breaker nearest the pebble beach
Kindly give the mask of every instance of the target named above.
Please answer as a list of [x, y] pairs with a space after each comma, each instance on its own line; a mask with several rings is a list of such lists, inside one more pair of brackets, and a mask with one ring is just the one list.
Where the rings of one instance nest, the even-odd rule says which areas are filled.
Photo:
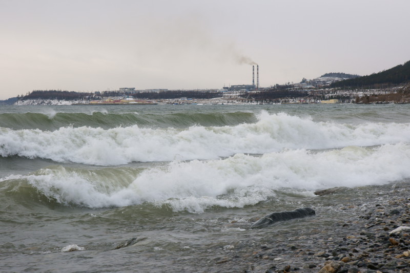
[[129, 179], [127, 168], [122, 171], [127, 179], [121, 178], [121, 171], [107, 179], [101, 170], [80, 173], [62, 166], [20, 179], [27, 179], [38, 192], [63, 204], [108, 207], [151, 202], [167, 204], [174, 211], [201, 213], [213, 206], [253, 205], [286, 188], [311, 195], [312, 191], [335, 186], [385, 184], [410, 178], [409, 165], [410, 144], [399, 143], [316, 153], [286, 150], [260, 157], [236, 154], [220, 160], [174, 161], [135, 173], [133, 179]]

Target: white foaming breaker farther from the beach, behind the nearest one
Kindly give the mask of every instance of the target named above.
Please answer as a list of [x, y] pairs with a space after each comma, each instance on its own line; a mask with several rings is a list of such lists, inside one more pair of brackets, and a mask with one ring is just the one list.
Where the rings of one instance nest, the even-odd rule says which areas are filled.
[[65, 127], [51, 132], [0, 128], [0, 156], [120, 165], [133, 161], [215, 159], [236, 153], [410, 142], [409, 123], [346, 125], [267, 112], [262, 112], [258, 119], [252, 124], [188, 129], [150, 129], [134, 125], [108, 130]]

